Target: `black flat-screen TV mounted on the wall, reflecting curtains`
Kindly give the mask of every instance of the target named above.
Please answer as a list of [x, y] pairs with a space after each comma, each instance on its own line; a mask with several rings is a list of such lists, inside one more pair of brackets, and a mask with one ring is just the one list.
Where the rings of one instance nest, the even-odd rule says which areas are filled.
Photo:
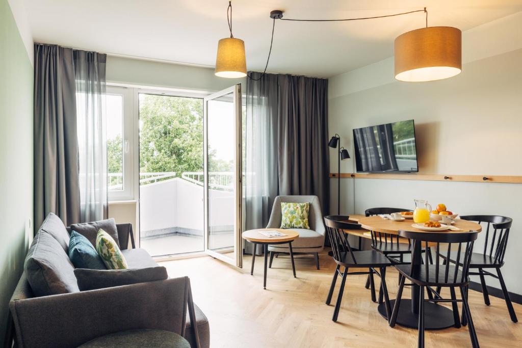
[[362, 173], [418, 172], [413, 120], [353, 129], [355, 166]]

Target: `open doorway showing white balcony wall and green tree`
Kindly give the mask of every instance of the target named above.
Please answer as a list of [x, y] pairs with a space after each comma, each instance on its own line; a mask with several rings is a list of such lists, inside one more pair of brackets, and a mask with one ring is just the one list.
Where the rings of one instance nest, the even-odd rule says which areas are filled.
[[139, 93], [140, 246], [204, 250], [203, 99]]

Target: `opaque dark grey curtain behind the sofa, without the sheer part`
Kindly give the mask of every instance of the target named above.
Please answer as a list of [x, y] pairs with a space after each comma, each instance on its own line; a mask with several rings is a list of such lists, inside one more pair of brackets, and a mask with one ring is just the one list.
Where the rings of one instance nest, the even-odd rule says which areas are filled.
[[34, 45], [34, 224], [80, 220], [73, 50]]

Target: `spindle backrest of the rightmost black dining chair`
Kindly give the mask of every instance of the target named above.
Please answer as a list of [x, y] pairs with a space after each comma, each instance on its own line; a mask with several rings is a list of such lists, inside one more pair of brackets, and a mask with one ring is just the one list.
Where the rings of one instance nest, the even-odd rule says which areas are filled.
[[[478, 223], [487, 222], [488, 228], [486, 229], [483, 254], [484, 256], [493, 257], [495, 263], [504, 262], [504, 255], [506, 254], [507, 247], [507, 237], [509, 236], [509, 229], [511, 229], [513, 219], [499, 215], [466, 215], [460, 217], [460, 219], [477, 221]], [[493, 235], [491, 236], [491, 240], [489, 239], [490, 225], [493, 225]]]

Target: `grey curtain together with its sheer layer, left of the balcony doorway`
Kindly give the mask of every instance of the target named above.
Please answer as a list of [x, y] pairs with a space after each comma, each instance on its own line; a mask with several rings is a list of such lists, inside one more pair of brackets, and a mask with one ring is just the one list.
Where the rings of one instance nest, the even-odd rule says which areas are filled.
[[[102, 157], [103, 161], [106, 149], [98, 146], [86, 150], [84, 144], [86, 139], [98, 143], [104, 135], [104, 94], [105, 55], [56, 45], [34, 45], [35, 226], [50, 212], [66, 225], [103, 218], [103, 210], [92, 206], [96, 203], [106, 209], [106, 161], [100, 165], [98, 159]], [[85, 173], [95, 174], [89, 178]], [[92, 176], [105, 183], [105, 191], [103, 184], [80, 185], [80, 181], [84, 183]], [[96, 193], [97, 200], [91, 199], [91, 193]], [[91, 210], [99, 213], [90, 213]]]

